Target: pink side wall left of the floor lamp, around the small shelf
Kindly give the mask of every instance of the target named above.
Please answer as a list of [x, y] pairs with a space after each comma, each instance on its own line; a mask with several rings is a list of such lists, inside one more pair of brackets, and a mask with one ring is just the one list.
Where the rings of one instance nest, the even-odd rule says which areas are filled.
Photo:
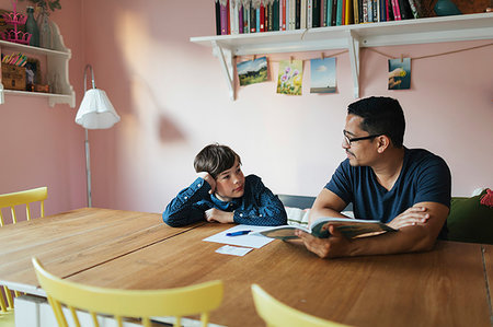
[[[25, 12], [27, 1], [18, 8]], [[71, 49], [69, 78], [80, 102], [83, 47], [81, 45], [81, 5], [61, 1], [62, 10], [51, 14], [60, 27], [65, 45]], [[11, 1], [0, 8], [12, 10]], [[0, 105], [0, 194], [48, 186], [48, 214], [83, 207], [85, 173], [83, 129], [74, 124], [76, 108], [48, 106], [44, 97], [5, 95]]]

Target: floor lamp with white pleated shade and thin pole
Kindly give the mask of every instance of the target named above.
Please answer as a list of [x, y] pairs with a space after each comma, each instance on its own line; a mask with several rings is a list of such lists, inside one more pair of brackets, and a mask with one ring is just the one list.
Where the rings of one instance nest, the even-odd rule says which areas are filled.
[[[92, 89], [88, 90], [88, 69], [91, 71]], [[85, 175], [88, 177], [88, 207], [92, 207], [91, 195], [91, 161], [89, 156], [88, 129], [107, 129], [119, 121], [106, 92], [96, 89], [94, 82], [94, 71], [91, 65], [84, 68], [84, 97], [77, 112], [76, 122], [85, 129]]]

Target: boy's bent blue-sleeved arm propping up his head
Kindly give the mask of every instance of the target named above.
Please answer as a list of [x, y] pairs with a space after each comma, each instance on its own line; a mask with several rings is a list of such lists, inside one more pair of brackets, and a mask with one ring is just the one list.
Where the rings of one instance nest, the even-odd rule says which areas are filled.
[[181, 190], [162, 213], [162, 220], [172, 227], [204, 221], [204, 210], [195, 205], [209, 196], [210, 185], [198, 177], [191, 186]]

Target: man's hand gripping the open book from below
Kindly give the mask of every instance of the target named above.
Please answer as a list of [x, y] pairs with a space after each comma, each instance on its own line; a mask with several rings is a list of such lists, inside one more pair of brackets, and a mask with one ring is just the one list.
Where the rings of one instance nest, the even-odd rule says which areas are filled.
[[319, 238], [308, 233], [296, 231], [305, 246], [321, 258], [337, 258], [351, 255], [351, 241], [339, 232], [334, 225], [329, 224], [329, 238]]

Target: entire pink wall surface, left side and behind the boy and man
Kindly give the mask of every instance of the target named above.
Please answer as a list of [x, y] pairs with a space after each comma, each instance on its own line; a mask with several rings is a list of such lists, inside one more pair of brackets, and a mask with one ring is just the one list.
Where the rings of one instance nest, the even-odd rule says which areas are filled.
[[[72, 50], [77, 105], [83, 66], [90, 62], [98, 86], [122, 116], [110, 130], [90, 131], [95, 207], [162, 211], [194, 179], [193, 159], [209, 142], [236, 149], [244, 172], [262, 176], [274, 192], [317, 195], [344, 159], [341, 130], [345, 107], [354, 101], [347, 54], [337, 56], [336, 94], [309, 94], [306, 61], [302, 96], [277, 95], [275, 83], [266, 82], [240, 87], [231, 102], [211, 49], [188, 40], [215, 33], [213, 3], [194, 1], [191, 10], [188, 1], [179, 0], [62, 1], [53, 15]], [[379, 50], [419, 57], [486, 43]], [[493, 47], [486, 47], [415, 60], [412, 89], [388, 91], [387, 58], [362, 50], [360, 95], [401, 102], [405, 144], [442, 155], [457, 196], [493, 186], [492, 55]], [[320, 52], [295, 55], [314, 57]], [[275, 77], [275, 61], [289, 55], [270, 58]], [[41, 100], [5, 98], [0, 142], [8, 151], [0, 161], [0, 192], [48, 185], [50, 212], [84, 205], [83, 130], [73, 124], [74, 115]], [[7, 141], [7, 135], [19, 137]]]

